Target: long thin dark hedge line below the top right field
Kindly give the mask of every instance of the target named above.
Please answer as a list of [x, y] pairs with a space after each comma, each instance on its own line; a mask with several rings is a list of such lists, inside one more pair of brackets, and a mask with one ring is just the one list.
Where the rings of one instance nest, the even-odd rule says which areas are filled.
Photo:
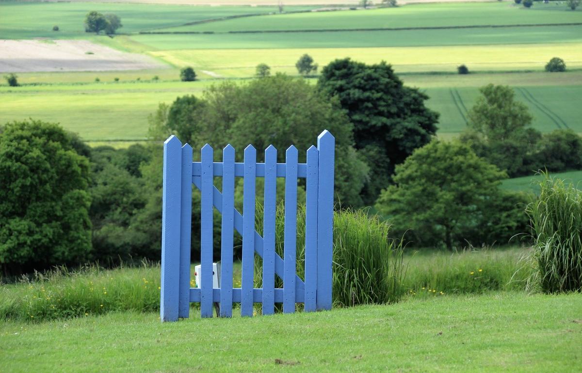
[[[265, 13], [267, 15], [267, 13]], [[219, 21], [221, 19], [217, 19]], [[207, 23], [212, 20], [206, 20]], [[184, 24], [174, 27], [190, 26]], [[421, 27], [370, 27], [370, 28], [307, 28], [304, 30], [238, 30], [238, 31], [140, 31], [140, 34], [268, 34], [268, 33], [333, 33], [345, 31], [404, 31], [404, 30], [455, 30], [460, 28], [503, 28], [503, 27], [542, 27], [542, 26], [582, 26], [574, 23], [533, 23], [533, 24], [477, 24], [467, 26], [421, 26]], [[154, 29], [155, 30], [155, 29]]]

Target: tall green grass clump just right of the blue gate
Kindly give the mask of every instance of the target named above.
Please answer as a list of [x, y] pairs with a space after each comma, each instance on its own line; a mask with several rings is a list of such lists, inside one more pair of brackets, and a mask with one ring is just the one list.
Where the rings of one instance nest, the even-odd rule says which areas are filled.
[[338, 306], [398, 302], [403, 295], [402, 241], [391, 226], [363, 210], [333, 220], [333, 302]]

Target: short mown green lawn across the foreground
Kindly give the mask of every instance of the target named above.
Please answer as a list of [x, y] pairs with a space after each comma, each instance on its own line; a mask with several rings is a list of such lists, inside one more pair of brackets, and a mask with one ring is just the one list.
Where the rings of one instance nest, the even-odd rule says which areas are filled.
[[0, 343], [0, 365], [10, 372], [30, 370], [33, 356], [35, 370], [62, 372], [574, 372], [582, 363], [582, 295], [441, 296], [173, 324], [135, 313], [5, 322]]

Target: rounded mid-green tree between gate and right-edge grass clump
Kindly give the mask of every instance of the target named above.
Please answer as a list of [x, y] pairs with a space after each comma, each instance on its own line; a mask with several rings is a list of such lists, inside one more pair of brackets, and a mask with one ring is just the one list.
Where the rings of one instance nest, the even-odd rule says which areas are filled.
[[469, 146], [433, 140], [396, 166], [395, 185], [382, 191], [376, 207], [400, 230], [411, 228], [418, 245], [452, 249], [486, 225], [482, 216], [499, 198], [504, 177]]

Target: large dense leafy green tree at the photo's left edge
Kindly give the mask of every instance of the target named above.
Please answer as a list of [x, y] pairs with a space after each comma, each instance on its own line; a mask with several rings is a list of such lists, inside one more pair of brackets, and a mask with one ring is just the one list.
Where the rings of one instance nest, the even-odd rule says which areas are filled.
[[0, 263], [5, 272], [87, 259], [89, 163], [67, 132], [35, 120], [4, 125], [0, 180]]

